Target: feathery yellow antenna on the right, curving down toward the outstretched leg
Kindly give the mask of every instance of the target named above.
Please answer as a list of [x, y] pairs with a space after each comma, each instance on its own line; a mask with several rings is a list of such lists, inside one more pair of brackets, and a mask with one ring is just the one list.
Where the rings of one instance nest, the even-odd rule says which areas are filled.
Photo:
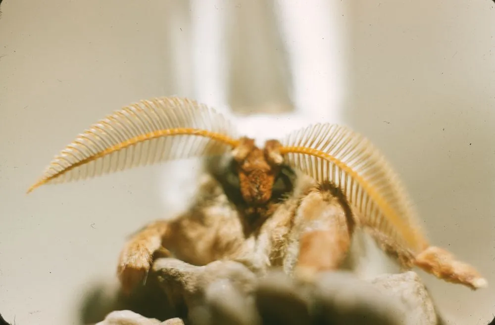
[[419, 253], [428, 247], [400, 181], [372, 143], [347, 127], [316, 124], [289, 134], [280, 153], [318, 182], [338, 186], [361, 225]]

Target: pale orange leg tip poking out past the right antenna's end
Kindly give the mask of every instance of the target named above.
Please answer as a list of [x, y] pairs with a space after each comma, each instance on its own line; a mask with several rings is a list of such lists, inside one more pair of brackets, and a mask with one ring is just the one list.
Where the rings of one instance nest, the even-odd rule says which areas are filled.
[[447, 282], [459, 283], [479, 289], [486, 287], [488, 282], [469, 264], [455, 259], [445, 249], [430, 246], [416, 255], [414, 265]]

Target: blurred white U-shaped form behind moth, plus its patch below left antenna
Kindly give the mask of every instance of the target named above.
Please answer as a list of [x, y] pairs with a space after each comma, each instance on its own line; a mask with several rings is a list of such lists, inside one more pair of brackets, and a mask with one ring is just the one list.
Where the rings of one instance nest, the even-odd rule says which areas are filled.
[[[273, 8], [278, 17], [281, 30], [278, 35], [289, 56], [287, 69], [294, 76], [295, 111], [245, 115], [242, 114], [245, 112], [232, 112], [227, 102], [229, 85], [226, 81], [231, 71], [226, 71], [226, 67], [231, 53], [225, 44], [226, 29], [233, 28], [230, 24], [236, 22], [226, 20], [229, 11], [223, 0], [190, 1], [194, 99], [223, 113], [237, 125], [240, 135], [256, 139], [260, 146], [267, 139], [282, 139], [309, 124], [342, 122], [346, 26], [336, 17], [341, 16], [345, 6], [333, 0], [309, 2], [275, 0], [272, 6], [265, 7]], [[256, 25], [256, 17], [250, 23]], [[173, 217], [191, 203], [202, 169], [196, 159], [170, 162], [163, 169], [162, 202], [167, 216]]]

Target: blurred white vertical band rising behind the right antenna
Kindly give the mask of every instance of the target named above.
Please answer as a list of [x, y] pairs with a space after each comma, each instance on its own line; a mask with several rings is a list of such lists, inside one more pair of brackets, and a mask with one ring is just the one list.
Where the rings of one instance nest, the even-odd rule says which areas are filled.
[[299, 113], [339, 122], [345, 95], [345, 6], [334, 0], [275, 0]]

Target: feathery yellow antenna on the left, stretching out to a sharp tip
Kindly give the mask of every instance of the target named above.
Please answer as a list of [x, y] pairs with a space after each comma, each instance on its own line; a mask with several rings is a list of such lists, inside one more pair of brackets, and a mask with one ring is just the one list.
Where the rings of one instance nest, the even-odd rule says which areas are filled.
[[44, 184], [93, 178], [170, 159], [222, 154], [237, 143], [233, 126], [212, 108], [187, 98], [141, 100], [80, 134], [53, 158], [27, 192]]

